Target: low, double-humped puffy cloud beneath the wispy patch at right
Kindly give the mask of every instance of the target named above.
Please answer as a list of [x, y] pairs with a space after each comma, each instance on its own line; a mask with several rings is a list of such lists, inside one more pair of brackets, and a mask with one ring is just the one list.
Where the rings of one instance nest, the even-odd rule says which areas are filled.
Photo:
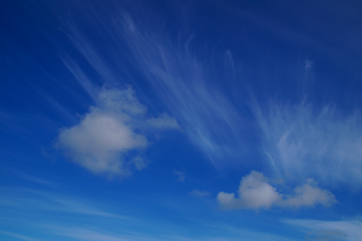
[[220, 192], [217, 200], [224, 208], [254, 210], [272, 206], [330, 206], [337, 203], [331, 191], [320, 189], [312, 179], [293, 189], [290, 194], [283, 194], [273, 187], [261, 172], [255, 170], [241, 179], [237, 195]]

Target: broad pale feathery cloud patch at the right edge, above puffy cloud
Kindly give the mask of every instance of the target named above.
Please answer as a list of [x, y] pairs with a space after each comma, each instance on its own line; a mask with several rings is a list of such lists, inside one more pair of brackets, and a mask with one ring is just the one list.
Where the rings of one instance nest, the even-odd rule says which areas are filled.
[[279, 175], [361, 186], [360, 111], [343, 116], [331, 106], [313, 109], [305, 102], [271, 102], [266, 111], [258, 109], [256, 117], [262, 131], [262, 148]]

